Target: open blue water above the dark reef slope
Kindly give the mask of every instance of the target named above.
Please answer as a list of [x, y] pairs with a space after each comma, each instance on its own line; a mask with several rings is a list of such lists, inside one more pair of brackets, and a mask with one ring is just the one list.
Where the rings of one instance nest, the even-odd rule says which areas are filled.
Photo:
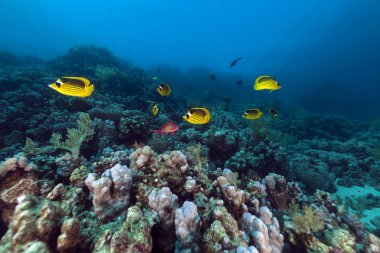
[[[1, 0], [0, 50], [53, 59], [78, 44], [104, 46], [146, 70], [160, 66], [181, 95], [227, 94], [233, 103], [266, 99], [252, 84], [269, 74], [283, 86], [270, 98], [289, 110], [372, 119], [379, 13], [377, 0]], [[196, 92], [187, 94], [189, 85]]]

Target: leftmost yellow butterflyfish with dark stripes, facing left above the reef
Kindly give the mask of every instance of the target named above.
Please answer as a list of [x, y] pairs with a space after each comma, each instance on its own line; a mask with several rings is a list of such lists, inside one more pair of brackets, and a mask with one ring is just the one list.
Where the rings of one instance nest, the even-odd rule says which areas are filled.
[[58, 78], [49, 87], [66, 96], [88, 97], [94, 91], [94, 85], [84, 77], [66, 76]]

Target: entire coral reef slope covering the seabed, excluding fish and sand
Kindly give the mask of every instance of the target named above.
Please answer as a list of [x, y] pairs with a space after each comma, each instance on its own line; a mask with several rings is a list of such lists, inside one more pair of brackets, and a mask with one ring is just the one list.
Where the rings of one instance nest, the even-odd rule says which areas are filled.
[[[210, 123], [191, 125], [196, 101], [91, 45], [51, 62], [0, 52], [0, 66], [0, 252], [379, 252], [378, 215], [363, 218], [378, 195], [338, 194], [380, 191], [376, 122], [247, 121], [210, 99]], [[68, 74], [96, 92], [46, 88]], [[170, 120], [174, 135], [152, 134]]]

